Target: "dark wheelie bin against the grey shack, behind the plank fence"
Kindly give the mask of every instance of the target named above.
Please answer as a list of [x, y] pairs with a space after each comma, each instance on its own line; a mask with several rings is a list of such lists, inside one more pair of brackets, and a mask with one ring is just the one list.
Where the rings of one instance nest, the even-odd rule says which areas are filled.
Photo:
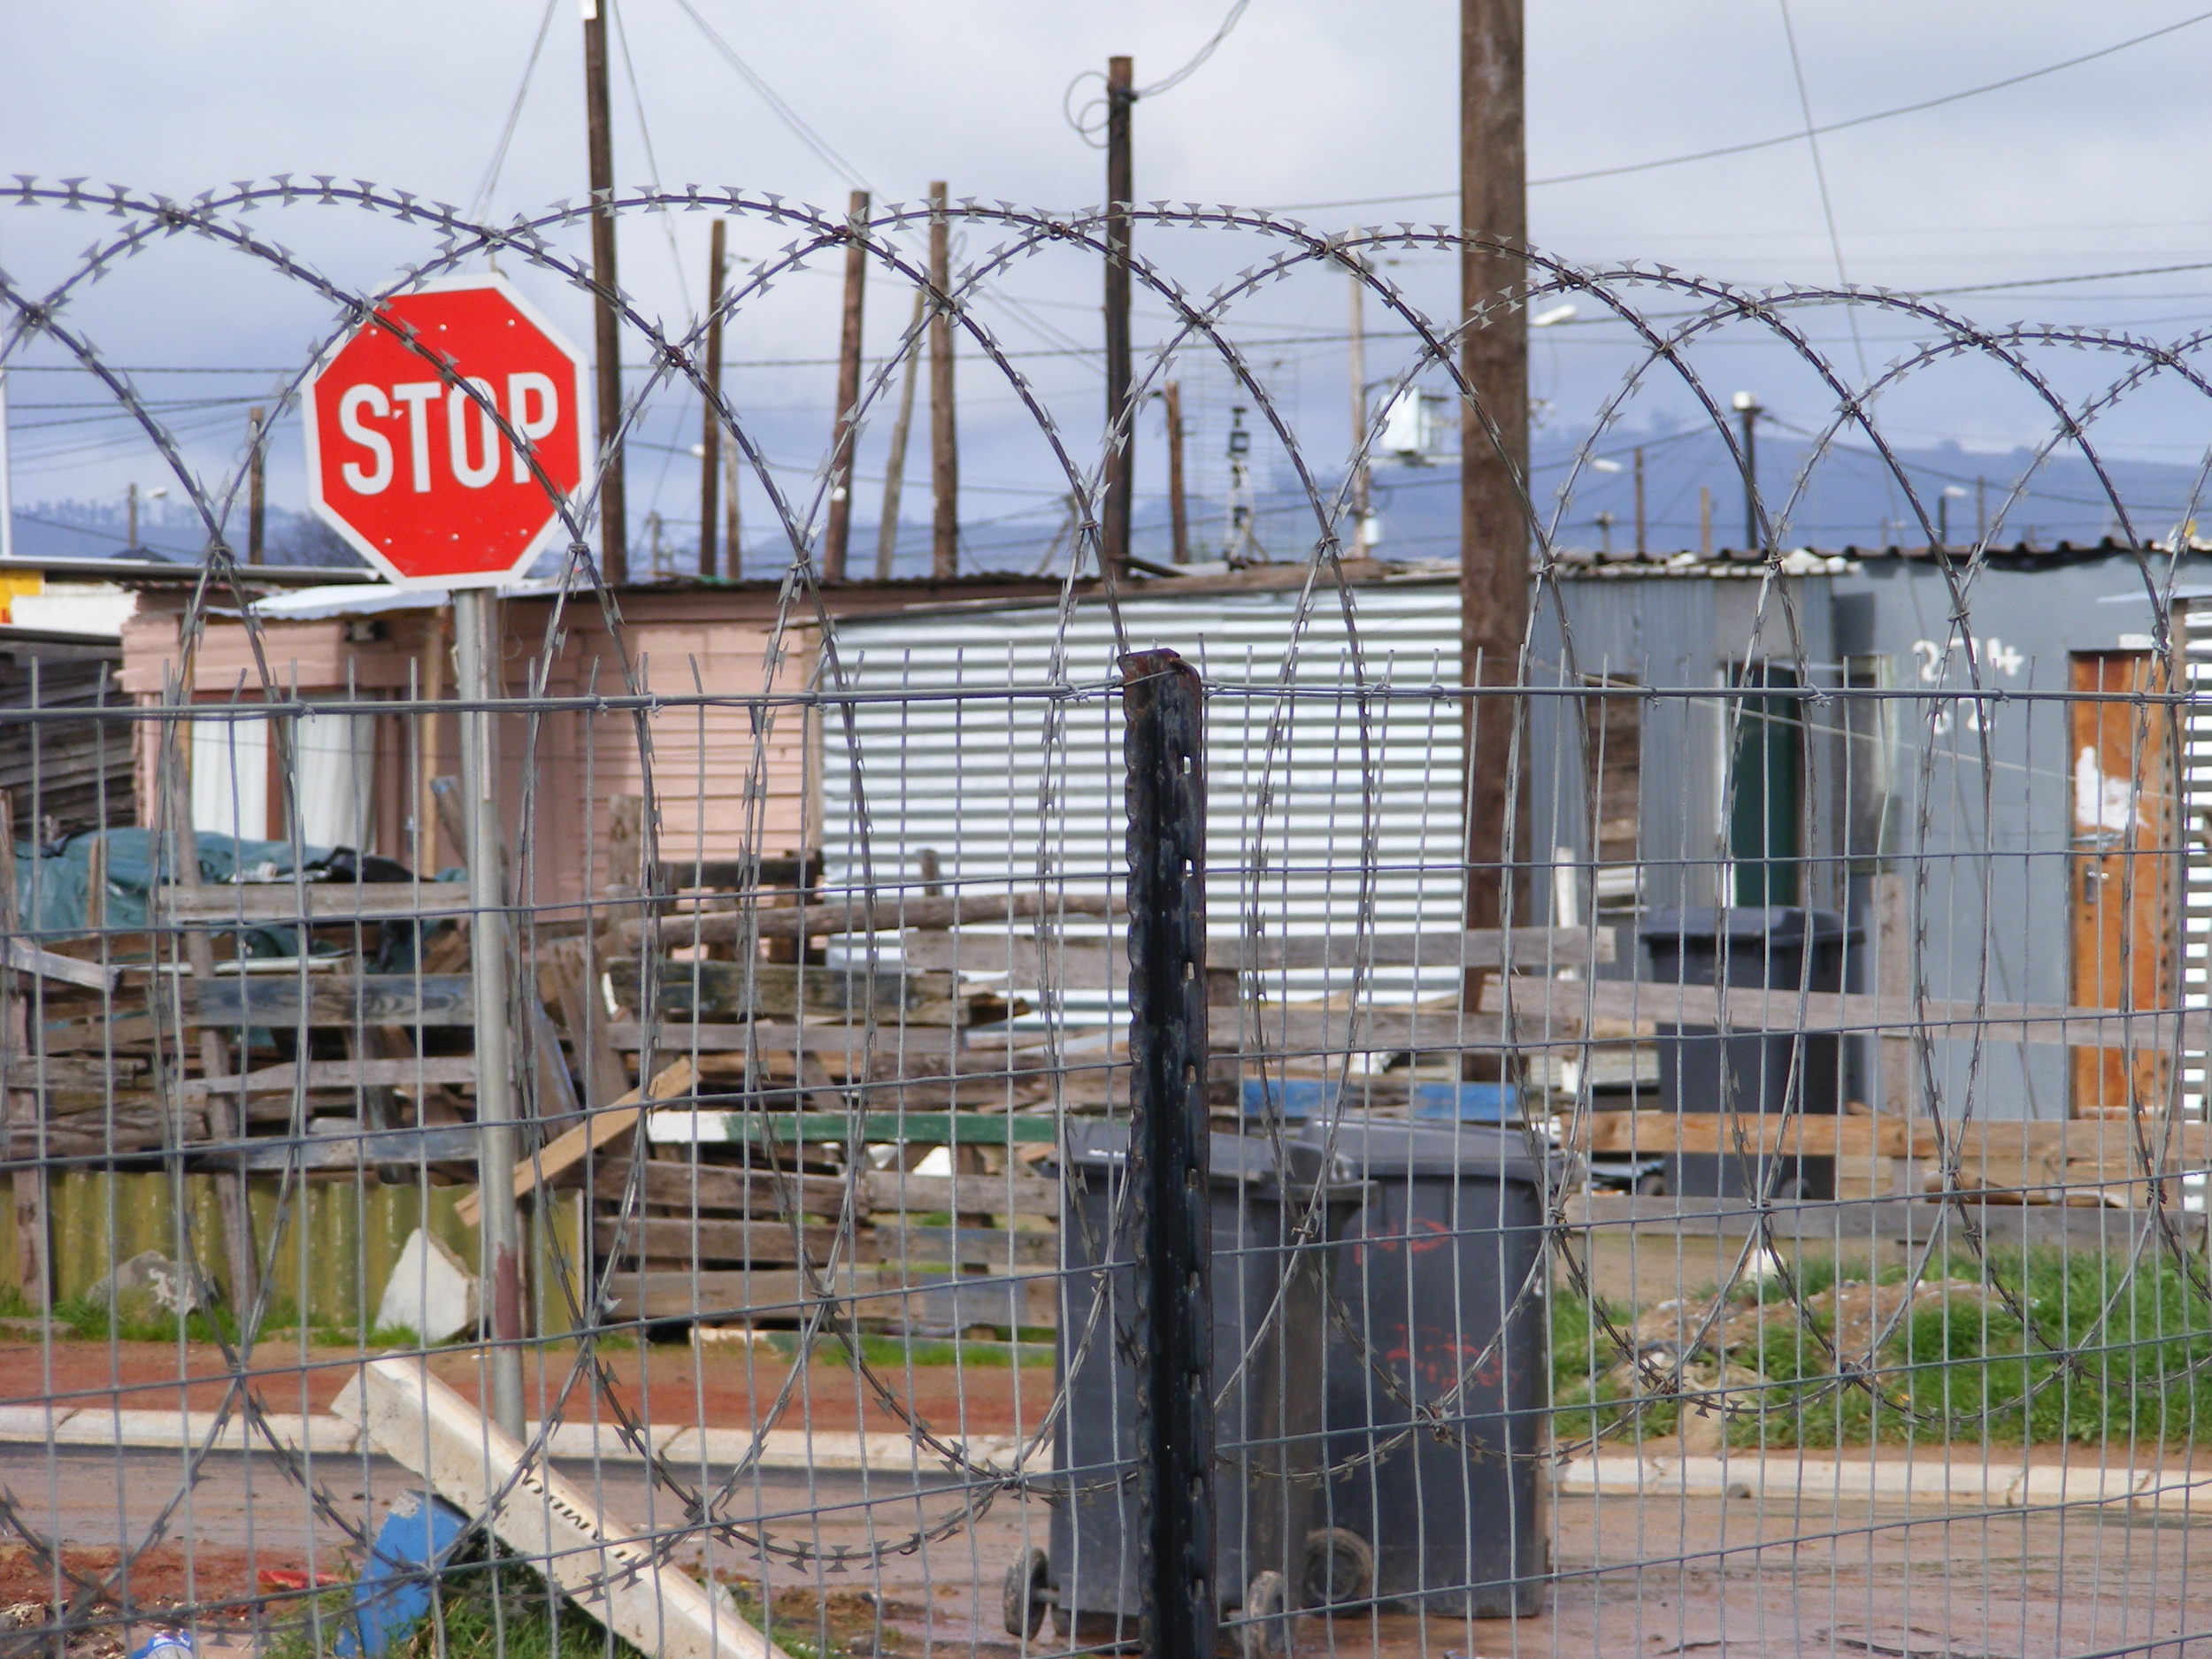
[[[1845, 920], [1825, 909], [1692, 907], [1644, 918], [1644, 949], [1663, 984], [1840, 991]], [[1666, 993], [1652, 998], [1666, 1006]], [[1843, 1037], [1834, 1031], [1659, 1026], [1659, 1097], [1670, 1113], [1807, 1113], [1834, 1117], [1843, 1097]], [[1836, 1159], [1670, 1152], [1670, 1192], [1697, 1199], [1834, 1199]]]

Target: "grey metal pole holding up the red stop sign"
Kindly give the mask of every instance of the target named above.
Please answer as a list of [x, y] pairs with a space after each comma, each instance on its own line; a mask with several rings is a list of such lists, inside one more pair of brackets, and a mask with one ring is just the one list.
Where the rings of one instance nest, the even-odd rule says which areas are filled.
[[476, 1011], [476, 1179], [484, 1194], [482, 1283], [489, 1296], [491, 1420], [522, 1438], [522, 1212], [515, 1206], [515, 1066], [507, 973], [507, 894], [500, 880], [500, 754], [489, 703], [498, 604], [484, 588], [453, 595], [460, 690], [462, 834], [469, 858], [469, 984]]

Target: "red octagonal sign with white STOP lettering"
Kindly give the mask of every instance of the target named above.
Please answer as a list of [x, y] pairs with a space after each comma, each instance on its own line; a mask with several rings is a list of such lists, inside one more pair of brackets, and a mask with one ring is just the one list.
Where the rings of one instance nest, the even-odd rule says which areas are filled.
[[584, 478], [584, 358], [500, 276], [427, 283], [378, 319], [414, 343], [365, 323], [307, 387], [314, 511], [400, 584], [522, 575]]

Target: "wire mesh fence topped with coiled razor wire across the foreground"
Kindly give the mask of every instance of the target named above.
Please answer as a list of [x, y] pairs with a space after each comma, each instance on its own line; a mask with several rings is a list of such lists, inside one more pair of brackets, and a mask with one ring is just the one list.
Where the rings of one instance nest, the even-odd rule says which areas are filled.
[[[124, 223], [80, 276], [192, 230], [343, 332], [374, 296], [241, 217], [321, 201], [427, 217], [442, 268], [495, 248], [584, 281], [551, 241], [573, 212], [465, 226], [332, 181], [100, 195]], [[922, 215], [619, 206], [701, 201], [790, 226], [792, 265], [863, 234], [927, 285]], [[1146, 234], [1272, 241], [1206, 301], [1141, 281], [1181, 325], [1155, 369], [1203, 349], [1250, 387], [1312, 533], [1290, 564], [1133, 582], [1097, 568], [1097, 469], [973, 307], [1099, 226], [960, 215], [1009, 248], [931, 303], [1064, 462], [1055, 582], [852, 602], [697, 330], [630, 310], [653, 378], [690, 378], [774, 498], [779, 586], [708, 615], [697, 586], [597, 582], [586, 484], [471, 703], [445, 595], [265, 593], [226, 540], [237, 480], [170, 447], [204, 566], [148, 580], [113, 659], [11, 646], [4, 1639], [2212, 1641], [2188, 535], [2154, 544], [2112, 491], [2097, 549], [2008, 546], [2000, 504], [1973, 546], [1922, 522], [1913, 555], [1825, 555], [1754, 487], [1756, 549], [1606, 562], [1562, 546], [1571, 480], [1531, 507], [1500, 675], [1462, 661], [1449, 573], [1345, 557], [1349, 476], [1321, 482], [1221, 321], [1349, 270], [1411, 341], [1398, 385], [1451, 376], [1455, 330], [1367, 252], [1455, 237], [1157, 208]], [[2128, 365], [2084, 396], [2035, 365], [2077, 332], [1533, 272], [1630, 319], [1630, 392], [1681, 376], [1721, 434], [1690, 358], [1745, 319], [1832, 383], [1823, 445], [1876, 453], [1876, 394], [1960, 356], [2093, 465], [2117, 400], [2197, 387], [2194, 343], [2090, 341]], [[66, 321], [77, 281], [9, 285], [7, 349], [69, 352], [161, 442]], [[1854, 389], [1792, 323], [1809, 303], [1944, 341]], [[511, 414], [487, 418], [520, 453]], [[1197, 701], [1146, 748], [1166, 681]], [[491, 907], [462, 867], [473, 714]], [[498, 1044], [471, 989], [493, 949]]]

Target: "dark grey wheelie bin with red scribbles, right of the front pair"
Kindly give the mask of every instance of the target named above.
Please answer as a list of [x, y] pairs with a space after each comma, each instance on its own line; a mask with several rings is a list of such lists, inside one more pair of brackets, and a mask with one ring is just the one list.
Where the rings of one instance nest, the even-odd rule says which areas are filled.
[[1365, 1183], [1329, 1274], [1334, 1473], [1316, 1528], [1365, 1540], [1374, 1586], [1338, 1582], [1327, 1601], [1540, 1613], [1551, 1571], [1544, 1164], [1522, 1130], [1484, 1124], [1356, 1115], [1307, 1124], [1298, 1139]]

